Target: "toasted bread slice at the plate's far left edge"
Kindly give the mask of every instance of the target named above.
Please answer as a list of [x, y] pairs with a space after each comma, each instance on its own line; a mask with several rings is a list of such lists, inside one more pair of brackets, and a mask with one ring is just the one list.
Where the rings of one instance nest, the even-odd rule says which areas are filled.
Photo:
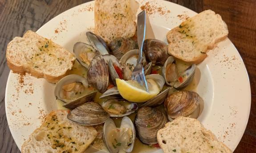
[[27, 31], [7, 45], [8, 67], [16, 73], [30, 73], [49, 82], [57, 82], [73, 67], [75, 56], [65, 48], [36, 32]]

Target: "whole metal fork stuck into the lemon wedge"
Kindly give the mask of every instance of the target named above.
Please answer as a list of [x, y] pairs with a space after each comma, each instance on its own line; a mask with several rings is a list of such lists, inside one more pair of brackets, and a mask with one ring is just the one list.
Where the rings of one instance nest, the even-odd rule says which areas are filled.
[[148, 86], [146, 83], [146, 78], [144, 75], [144, 68], [141, 64], [143, 57], [142, 57], [142, 47], [145, 40], [145, 33], [146, 33], [146, 12], [142, 11], [138, 14], [137, 18], [137, 38], [138, 38], [138, 60], [137, 64], [132, 71], [131, 78], [132, 80], [137, 81], [140, 85], [144, 86], [146, 91], [148, 92]]

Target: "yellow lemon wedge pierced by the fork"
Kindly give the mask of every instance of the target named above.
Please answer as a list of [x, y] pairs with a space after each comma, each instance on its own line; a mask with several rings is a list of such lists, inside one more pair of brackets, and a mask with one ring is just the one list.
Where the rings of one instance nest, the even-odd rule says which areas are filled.
[[130, 102], [146, 102], [154, 98], [160, 92], [157, 83], [153, 79], [147, 79], [146, 81], [149, 92], [146, 92], [146, 90], [134, 80], [125, 81], [116, 78], [119, 93]]

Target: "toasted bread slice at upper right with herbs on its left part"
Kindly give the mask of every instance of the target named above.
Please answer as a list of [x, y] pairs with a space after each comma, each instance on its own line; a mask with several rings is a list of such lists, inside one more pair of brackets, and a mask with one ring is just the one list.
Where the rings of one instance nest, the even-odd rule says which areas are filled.
[[207, 50], [228, 36], [227, 24], [219, 14], [206, 10], [187, 19], [167, 33], [168, 53], [189, 63], [201, 63]]

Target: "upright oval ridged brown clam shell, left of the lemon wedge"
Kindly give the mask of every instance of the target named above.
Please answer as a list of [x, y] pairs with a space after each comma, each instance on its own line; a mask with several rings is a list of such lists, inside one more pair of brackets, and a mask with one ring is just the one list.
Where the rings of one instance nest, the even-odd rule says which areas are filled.
[[100, 93], [107, 90], [109, 84], [109, 71], [102, 55], [96, 55], [87, 71], [87, 80], [90, 85], [94, 86]]

